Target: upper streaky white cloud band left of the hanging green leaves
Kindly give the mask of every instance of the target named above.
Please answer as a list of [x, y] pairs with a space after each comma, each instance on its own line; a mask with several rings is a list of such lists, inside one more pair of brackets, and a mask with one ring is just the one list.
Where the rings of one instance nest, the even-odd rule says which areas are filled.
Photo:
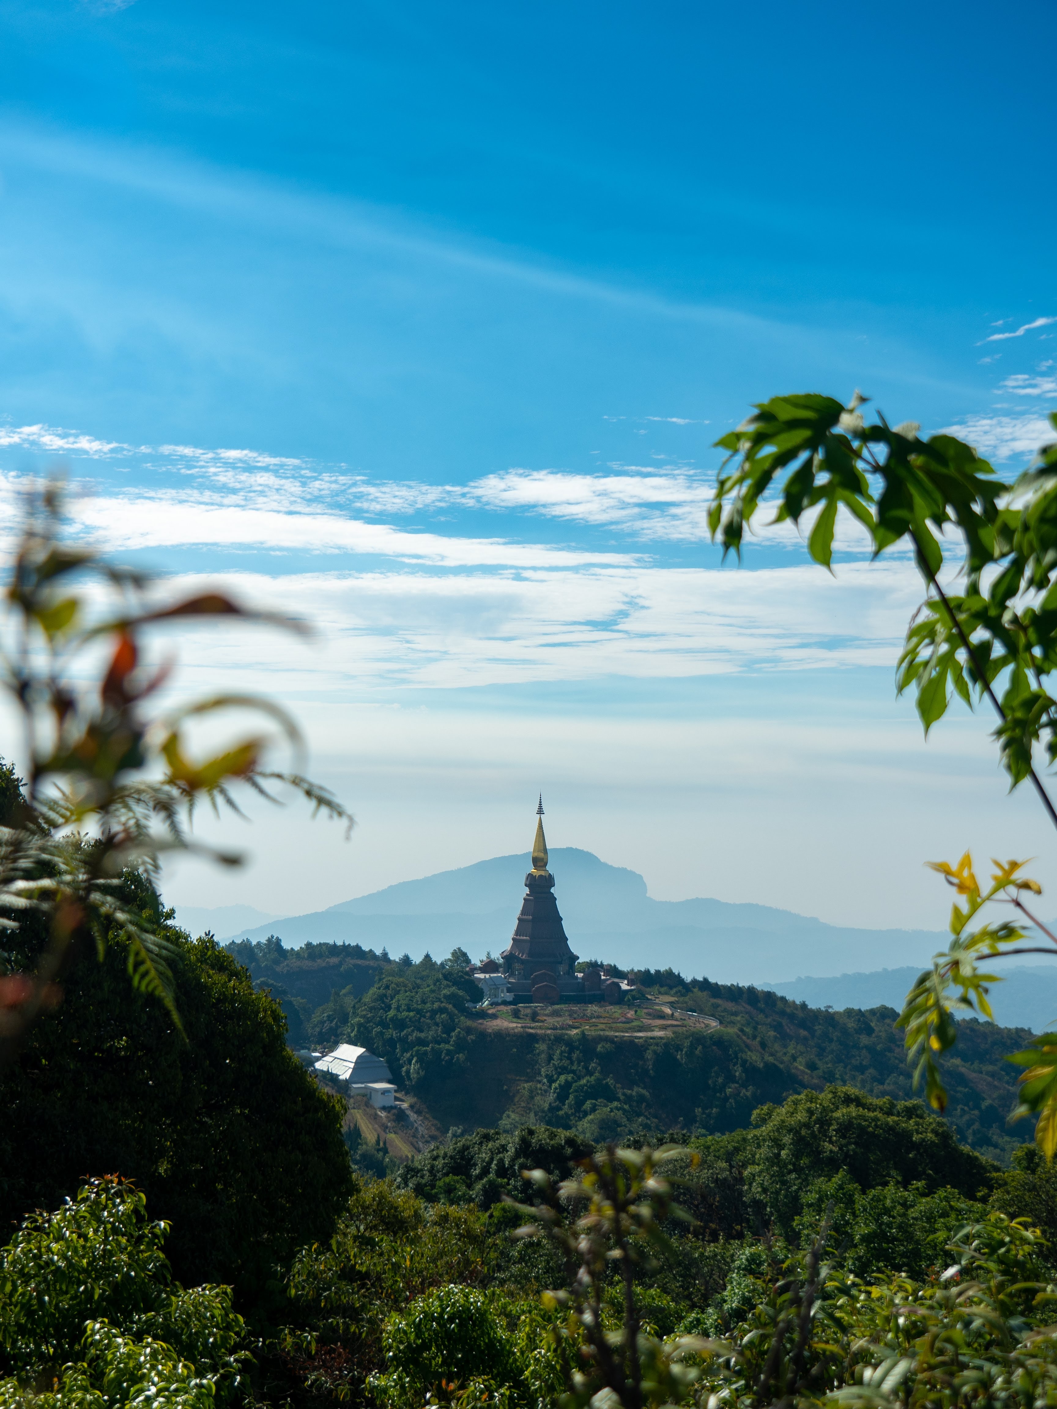
[[[344, 466], [256, 449], [137, 447], [47, 426], [0, 430], [0, 449], [4, 447], [90, 462], [87, 483], [99, 499], [94, 506], [86, 500], [82, 517], [101, 524], [110, 509], [100, 504], [124, 506], [116, 510], [121, 516], [131, 506], [123, 541], [132, 548], [227, 545], [241, 551], [369, 552], [447, 566], [493, 564], [517, 569], [558, 561], [626, 561], [620, 554], [513, 545], [499, 535], [412, 533], [371, 521], [466, 509], [612, 527], [647, 542], [703, 542], [710, 537], [712, 472], [684, 465], [613, 464], [609, 473], [512, 468], [468, 485], [430, 485], [369, 479]], [[118, 489], [113, 479], [100, 478], [100, 462], [110, 462], [111, 469], [135, 466], [148, 483]], [[179, 488], [180, 480], [187, 482], [186, 489]], [[791, 524], [761, 527], [761, 533], [778, 547], [801, 542]], [[839, 545], [850, 551], [868, 548], [865, 537], [843, 523]]]

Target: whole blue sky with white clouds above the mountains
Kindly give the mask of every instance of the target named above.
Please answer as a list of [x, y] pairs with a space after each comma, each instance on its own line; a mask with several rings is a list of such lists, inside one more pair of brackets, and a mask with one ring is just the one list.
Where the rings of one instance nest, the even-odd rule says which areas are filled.
[[314, 623], [187, 635], [179, 683], [286, 703], [358, 823], [252, 809], [166, 899], [527, 850], [540, 790], [662, 899], [937, 929], [965, 847], [1057, 885], [991, 721], [895, 697], [913, 565], [706, 528], [779, 392], [1030, 461], [1054, 41], [1033, 0], [0, 0], [4, 514], [59, 469], [173, 590]]

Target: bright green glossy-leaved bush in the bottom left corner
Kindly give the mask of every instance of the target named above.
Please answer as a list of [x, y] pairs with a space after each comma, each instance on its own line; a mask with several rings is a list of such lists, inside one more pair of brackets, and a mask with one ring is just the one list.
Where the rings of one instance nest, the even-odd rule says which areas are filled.
[[[200, 1409], [238, 1389], [247, 1355], [231, 1291], [175, 1282], [165, 1233], [118, 1178], [23, 1223], [0, 1251], [0, 1405]], [[35, 1396], [25, 1386], [42, 1372], [56, 1388]]]

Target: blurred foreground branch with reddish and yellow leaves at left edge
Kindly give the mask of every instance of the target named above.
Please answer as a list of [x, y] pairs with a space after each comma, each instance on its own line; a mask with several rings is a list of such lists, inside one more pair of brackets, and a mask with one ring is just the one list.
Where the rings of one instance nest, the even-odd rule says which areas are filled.
[[0, 976], [0, 1067], [56, 999], [63, 974], [92, 947], [101, 955], [114, 931], [128, 940], [132, 985], [162, 999], [179, 1023], [168, 944], [121, 906], [117, 888], [127, 868], [154, 876], [173, 851], [238, 864], [237, 854], [192, 838], [196, 806], [238, 812], [240, 785], [272, 797], [266, 785], [279, 782], [307, 797], [314, 813], [352, 826], [344, 806], [300, 771], [265, 766], [266, 731], [194, 759], [189, 727], [233, 709], [278, 726], [300, 752], [297, 726], [275, 702], [217, 695], [149, 710], [171, 665], [145, 666], [148, 633], [228, 619], [303, 630], [299, 623], [216, 592], [166, 602], [147, 573], [70, 540], [56, 485], [25, 492], [4, 606], [0, 681], [21, 717], [28, 776], [6, 779], [0, 929], [18, 934], [37, 916], [45, 940], [27, 971]]

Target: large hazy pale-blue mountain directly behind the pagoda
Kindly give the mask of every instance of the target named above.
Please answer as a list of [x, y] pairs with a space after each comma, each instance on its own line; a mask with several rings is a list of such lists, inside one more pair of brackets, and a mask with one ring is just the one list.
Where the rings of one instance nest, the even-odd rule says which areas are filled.
[[[455, 945], [472, 958], [499, 954], [510, 941], [531, 867], [527, 852], [493, 857], [420, 881], [402, 881], [313, 914], [228, 931], [288, 945], [309, 941], [386, 948], [396, 958], [443, 958]], [[860, 930], [726, 900], [654, 900], [636, 871], [610, 867], [591, 851], [551, 851], [558, 909], [581, 958], [623, 967], [674, 968], [722, 983], [781, 983], [809, 971], [837, 975], [881, 964], [920, 968], [944, 936], [927, 930]]]

